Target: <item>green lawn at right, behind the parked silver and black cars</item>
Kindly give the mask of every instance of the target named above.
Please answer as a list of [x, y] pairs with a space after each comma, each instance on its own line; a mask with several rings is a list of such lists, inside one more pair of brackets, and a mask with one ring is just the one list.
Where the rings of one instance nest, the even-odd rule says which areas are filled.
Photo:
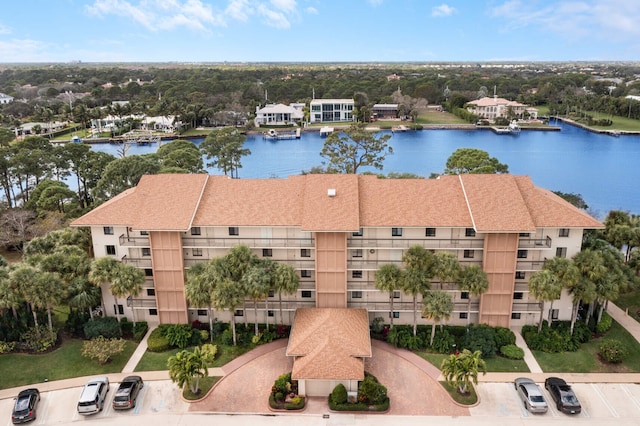
[[[598, 347], [605, 338], [619, 340], [629, 351], [629, 355], [621, 364], [601, 362]], [[550, 354], [532, 351], [538, 364], [545, 373], [638, 373], [640, 372], [640, 343], [617, 322], [613, 322], [605, 337], [593, 339], [580, 347], [576, 352]]]

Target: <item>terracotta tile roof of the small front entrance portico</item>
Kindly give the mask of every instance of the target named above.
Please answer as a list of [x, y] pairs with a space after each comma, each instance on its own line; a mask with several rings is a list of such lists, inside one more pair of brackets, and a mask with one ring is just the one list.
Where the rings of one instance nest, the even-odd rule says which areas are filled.
[[371, 357], [366, 309], [299, 308], [287, 356], [292, 379], [363, 380], [363, 357]]

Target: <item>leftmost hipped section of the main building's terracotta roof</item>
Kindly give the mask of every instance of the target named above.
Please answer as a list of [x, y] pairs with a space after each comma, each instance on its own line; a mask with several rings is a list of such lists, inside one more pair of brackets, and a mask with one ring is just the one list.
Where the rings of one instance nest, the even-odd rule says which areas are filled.
[[142, 176], [138, 186], [76, 219], [72, 226], [125, 225], [146, 231], [186, 231], [191, 227], [208, 175]]

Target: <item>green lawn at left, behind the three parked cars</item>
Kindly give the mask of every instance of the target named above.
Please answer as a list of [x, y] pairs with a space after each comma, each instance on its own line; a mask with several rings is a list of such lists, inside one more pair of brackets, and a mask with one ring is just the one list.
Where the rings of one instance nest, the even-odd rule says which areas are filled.
[[0, 389], [71, 377], [119, 373], [137, 347], [137, 343], [127, 341], [120, 355], [108, 364], [99, 365], [80, 355], [82, 342], [80, 339], [69, 339], [58, 349], [42, 355], [0, 355]]

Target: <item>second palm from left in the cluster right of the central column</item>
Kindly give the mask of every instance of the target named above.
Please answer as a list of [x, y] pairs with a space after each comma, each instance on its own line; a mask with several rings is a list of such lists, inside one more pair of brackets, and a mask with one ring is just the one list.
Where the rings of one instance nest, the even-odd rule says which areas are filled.
[[418, 294], [431, 288], [434, 259], [430, 251], [422, 246], [413, 246], [402, 256], [405, 265], [402, 291], [413, 296], [413, 335], [418, 330]]

